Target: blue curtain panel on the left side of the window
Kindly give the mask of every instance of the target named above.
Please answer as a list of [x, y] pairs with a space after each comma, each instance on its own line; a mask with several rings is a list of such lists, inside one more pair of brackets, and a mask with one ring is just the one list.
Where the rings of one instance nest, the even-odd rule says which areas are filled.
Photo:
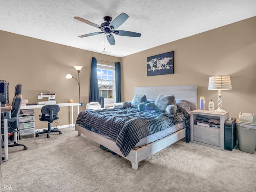
[[98, 86], [98, 76], [97, 76], [97, 60], [92, 58], [91, 65], [91, 80], [90, 80], [90, 97], [89, 102], [100, 101], [100, 91]]

